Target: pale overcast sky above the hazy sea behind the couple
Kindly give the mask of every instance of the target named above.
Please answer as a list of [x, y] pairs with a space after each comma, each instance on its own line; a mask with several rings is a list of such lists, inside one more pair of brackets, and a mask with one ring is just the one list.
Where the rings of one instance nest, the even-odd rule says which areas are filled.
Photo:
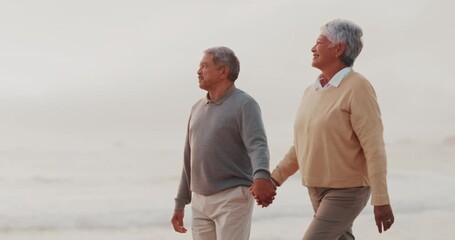
[[363, 28], [354, 68], [376, 89], [386, 142], [441, 142], [455, 135], [453, 9], [451, 0], [2, 0], [0, 145], [181, 149], [205, 94], [202, 51], [220, 45], [238, 55], [236, 85], [261, 105], [271, 144], [287, 145], [319, 74], [310, 49], [334, 18]]

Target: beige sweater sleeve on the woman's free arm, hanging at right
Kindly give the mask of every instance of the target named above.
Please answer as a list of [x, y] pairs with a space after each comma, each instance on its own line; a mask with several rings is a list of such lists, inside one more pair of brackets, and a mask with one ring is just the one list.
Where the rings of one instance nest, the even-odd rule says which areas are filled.
[[383, 125], [376, 93], [366, 79], [357, 83], [352, 92], [351, 123], [365, 154], [372, 193], [371, 204], [390, 204]]

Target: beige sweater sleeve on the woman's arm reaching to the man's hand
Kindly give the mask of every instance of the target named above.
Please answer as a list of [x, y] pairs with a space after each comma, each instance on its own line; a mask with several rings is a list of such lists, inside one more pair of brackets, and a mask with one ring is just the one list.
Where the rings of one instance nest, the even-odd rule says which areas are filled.
[[297, 162], [297, 154], [295, 152], [294, 145], [289, 149], [283, 160], [278, 163], [276, 168], [272, 172], [272, 178], [281, 186], [286, 179], [292, 176], [299, 170], [299, 164]]

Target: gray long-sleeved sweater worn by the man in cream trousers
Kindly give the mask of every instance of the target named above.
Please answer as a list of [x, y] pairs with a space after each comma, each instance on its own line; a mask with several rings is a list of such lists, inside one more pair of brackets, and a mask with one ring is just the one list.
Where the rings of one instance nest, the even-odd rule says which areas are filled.
[[175, 209], [189, 204], [192, 192], [209, 196], [269, 176], [267, 137], [257, 102], [234, 85], [215, 102], [199, 100], [188, 121]]

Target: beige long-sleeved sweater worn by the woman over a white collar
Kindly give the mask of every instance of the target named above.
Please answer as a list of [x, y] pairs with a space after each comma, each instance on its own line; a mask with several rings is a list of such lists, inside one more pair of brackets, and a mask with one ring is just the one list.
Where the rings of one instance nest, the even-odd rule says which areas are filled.
[[305, 90], [294, 145], [272, 177], [282, 184], [300, 170], [307, 187], [370, 186], [373, 205], [389, 204], [381, 113], [373, 87], [352, 71], [340, 86]]

